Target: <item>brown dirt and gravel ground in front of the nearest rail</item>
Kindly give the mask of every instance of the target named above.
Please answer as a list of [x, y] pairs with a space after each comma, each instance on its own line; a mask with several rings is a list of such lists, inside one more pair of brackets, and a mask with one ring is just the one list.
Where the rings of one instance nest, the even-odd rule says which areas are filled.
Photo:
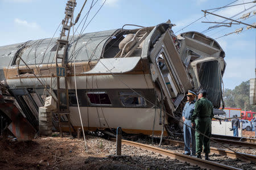
[[201, 169], [133, 146], [122, 145], [122, 156], [115, 156], [115, 142], [92, 135], [86, 135], [86, 144], [88, 151], [77, 138], [0, 140], [0, 169]]

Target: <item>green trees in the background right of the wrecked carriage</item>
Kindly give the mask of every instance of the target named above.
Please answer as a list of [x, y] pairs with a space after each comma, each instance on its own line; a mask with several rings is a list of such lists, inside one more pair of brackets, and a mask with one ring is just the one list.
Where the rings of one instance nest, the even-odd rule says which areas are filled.
[[225, 107], [241, 108], [246, 107], [246, 111], [256, 112], [256, 105], [250, 105], [250, 80], [242, 82], [234, 90], [226, 88], [224, 90]]

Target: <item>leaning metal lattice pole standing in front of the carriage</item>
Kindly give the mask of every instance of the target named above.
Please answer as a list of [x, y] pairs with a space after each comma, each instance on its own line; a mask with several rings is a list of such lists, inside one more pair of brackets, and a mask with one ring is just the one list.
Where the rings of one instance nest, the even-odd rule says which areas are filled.
[[[56, 76], [57, 76], [57, 115], [59, 119], [59, 130], [62, 137], [62, 125], [69, 126], [69, 133], [71, 134], [71, 122], [70, 122], [70, 111], [69, 111], [69, 97], [68, 97], [68, 80], [67, 80], [67, 49], [68, 49], [68, 38], [72, 27], [73, 11], [76, 7], [76, 0], [68, 1], [65, 7], [65, 18], [62, 20], [62, 29], [60, 37], [57, 40], [57, 49], [55, 54], [56, 62]], [[60, 87], [60, 77], [64, 80], [61, 83], [63, 87]], [[65, 116], [64, 116], [65, 115]], [[64, 121], [61, 120], [61, 117]], [[65, 120], [67, 118], [67, 120]]]

